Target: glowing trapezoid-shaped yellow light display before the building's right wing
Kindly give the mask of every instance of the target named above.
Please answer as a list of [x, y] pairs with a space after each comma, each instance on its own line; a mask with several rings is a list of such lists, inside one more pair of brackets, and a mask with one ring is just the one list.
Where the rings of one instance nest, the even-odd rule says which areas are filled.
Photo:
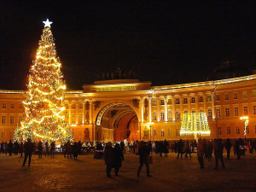
[[207, 113], [183, 113], [183, 121], [180, 129], [181, 135], [210, 136]]

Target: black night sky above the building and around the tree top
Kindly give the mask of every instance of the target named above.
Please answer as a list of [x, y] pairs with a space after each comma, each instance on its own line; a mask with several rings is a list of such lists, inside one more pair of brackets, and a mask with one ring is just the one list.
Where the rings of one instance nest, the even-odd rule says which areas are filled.
[[227, 59], [255, 61], [255, 1], [166, 2], [2, 1], [0, 89], [26, 90], [47, 18], [69, 90], [117, 67], [164, 85], [205, 81]]

